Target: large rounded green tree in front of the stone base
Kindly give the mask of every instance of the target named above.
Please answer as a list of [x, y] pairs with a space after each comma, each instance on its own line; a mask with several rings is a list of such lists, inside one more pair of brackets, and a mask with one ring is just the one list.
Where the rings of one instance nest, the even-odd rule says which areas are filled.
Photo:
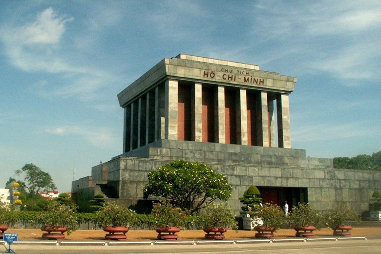
[[172, 161], [148, 173], [143, 196], [164, 197], [182, 210], [192, 213], [215, 199], [228, 200], [232, 187], [226, 176], [199, 163]]

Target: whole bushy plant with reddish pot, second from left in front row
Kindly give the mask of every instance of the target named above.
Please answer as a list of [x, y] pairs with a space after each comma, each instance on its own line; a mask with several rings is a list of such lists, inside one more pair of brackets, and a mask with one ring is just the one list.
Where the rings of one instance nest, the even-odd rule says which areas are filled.
[[78, 229], [77, 219], [75, 205], [61, 205], [51, 200], [48, 202], [47, 210], [37, 215], [36, 222], [42, 225], [42, 231], [47, 232], [42, 234], [42, 238], [58, 240], [65, 238], [64, 232], [70, 234]]

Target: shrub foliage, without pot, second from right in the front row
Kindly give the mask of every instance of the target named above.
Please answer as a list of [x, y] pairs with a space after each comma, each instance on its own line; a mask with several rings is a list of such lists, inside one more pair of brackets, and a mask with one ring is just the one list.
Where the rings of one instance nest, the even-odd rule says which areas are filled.
[[323, 217], [320, 212], [313, 209], [309, 204], [299, 203], [293, 207], [287, 219], [293, 228], [314, 226], [320, 229]]

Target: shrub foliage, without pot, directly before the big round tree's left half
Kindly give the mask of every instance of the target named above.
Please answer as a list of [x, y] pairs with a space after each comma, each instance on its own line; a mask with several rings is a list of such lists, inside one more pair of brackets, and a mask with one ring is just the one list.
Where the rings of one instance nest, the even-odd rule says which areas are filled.
[[184, 229], [188, 224], [189, 211], [173, 207], [168, 200], [153, 205], [152, 214], [156, 227], [177, 227]]

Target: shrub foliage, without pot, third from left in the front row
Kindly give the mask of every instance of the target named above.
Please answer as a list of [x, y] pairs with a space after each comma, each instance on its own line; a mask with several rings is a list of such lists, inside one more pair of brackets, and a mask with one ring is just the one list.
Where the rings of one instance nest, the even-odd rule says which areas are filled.
[[136, 212], [127, 207], [119, 206], [115, 202], [106, 203], [97, 212], [95, 212], [95, 221], [101, 228], [129, 227], [136, 223]]

